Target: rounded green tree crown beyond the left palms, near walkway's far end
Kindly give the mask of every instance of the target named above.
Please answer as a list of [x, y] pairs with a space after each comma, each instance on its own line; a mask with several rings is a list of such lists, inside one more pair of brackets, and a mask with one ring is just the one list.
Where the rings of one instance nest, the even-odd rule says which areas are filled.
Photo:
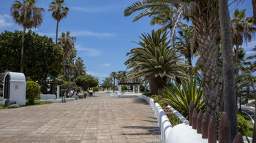
[[91, 75], [80, 75], [75, 79], [75, 84], [82, 87], [83, 90], [87, 90], [88, 88], [96, 87], [99, 81]]

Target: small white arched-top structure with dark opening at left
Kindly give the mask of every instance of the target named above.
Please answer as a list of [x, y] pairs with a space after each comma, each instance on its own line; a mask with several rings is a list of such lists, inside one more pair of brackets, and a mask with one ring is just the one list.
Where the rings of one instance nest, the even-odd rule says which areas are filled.
[[26, 78], [23, 73], [7, 72], [4, 76], [4, 98], [20, 105], [26, 104]]

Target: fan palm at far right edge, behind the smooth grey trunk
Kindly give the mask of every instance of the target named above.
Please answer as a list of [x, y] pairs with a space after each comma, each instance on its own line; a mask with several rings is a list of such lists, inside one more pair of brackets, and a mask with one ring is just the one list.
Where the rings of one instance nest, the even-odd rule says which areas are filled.
[[[238, 54], [239, 46], [245, 42], [252, 40], [252, 35], [255, 34], [256, 28], [253, 26], [253, 18], [245, 17], [246, 9], [239, 11], [235, 10], [233, 13], [233, 19], [231, 22], [231, 32], [233, 37], [233, 45], [236, 45], [236, 67], [238, 67]], [[238, 68], [236, 68], [236, 74], [238, 74]]]

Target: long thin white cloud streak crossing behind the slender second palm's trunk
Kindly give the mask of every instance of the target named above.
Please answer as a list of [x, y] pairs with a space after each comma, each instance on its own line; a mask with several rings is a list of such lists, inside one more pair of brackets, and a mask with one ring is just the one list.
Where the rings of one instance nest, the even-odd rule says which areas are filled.
[[[38, 32], [40, 35], [46, 35], [46, 36], [56, 36], [56, 33], [44, 33], [44, 32]], [[61, 35], [59, 33], [58, 35]], [[104, 38], [104, 37], [110, 37], [110, 36], [116, 36], [116, 34], [111, 34], [111, 33], [98, 33], [98, 32], [93, 32], [93, 31], [70, 31], [71, 36], [95, 36], [97, 38]]]

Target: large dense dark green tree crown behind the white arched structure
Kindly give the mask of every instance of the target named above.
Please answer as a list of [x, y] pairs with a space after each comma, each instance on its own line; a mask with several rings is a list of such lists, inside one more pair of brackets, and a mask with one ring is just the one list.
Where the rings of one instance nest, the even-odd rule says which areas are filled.
[[[20, 71], [22, 31], [4, 31], [0, 34], [0, 71]], [[8, 59], [8, 60], [6, 60]], [[23, 68], [26, 77], [42, 80], [61, 73], [63, 52], [48, 36], [33, 31], [25, 34]]]

